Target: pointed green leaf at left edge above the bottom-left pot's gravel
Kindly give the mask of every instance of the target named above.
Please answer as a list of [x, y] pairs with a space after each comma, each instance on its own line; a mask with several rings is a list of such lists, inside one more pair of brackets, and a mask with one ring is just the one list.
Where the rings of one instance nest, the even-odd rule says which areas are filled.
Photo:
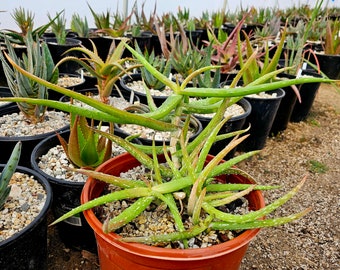
[[17, 142], [14, 146], [12, 154], [8, 159], [7, 164], [0, 174], [0, 210], [3, 208], [8, 195], [11, 191], [11, 186], [9, 185], [9, 181], [11, 180], [16, 167], [18, 166], [19, 159], [21, 154], [21, 142]]

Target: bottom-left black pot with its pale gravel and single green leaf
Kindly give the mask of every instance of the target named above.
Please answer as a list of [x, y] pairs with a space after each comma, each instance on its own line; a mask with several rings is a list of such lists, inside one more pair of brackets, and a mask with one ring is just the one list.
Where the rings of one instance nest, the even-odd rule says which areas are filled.
[[8, 161], [0, 165], [0, 267], [47, 269], [51, 187], [38, 173], [17, 166], [21, 147], [17, 142]]

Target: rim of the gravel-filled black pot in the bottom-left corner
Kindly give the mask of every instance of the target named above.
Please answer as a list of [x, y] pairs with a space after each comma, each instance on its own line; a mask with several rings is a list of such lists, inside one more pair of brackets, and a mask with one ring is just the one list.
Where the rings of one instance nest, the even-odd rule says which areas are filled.
[[[0, 167], [3, 168], [5, 166], [5, 164], [0, 164]], [[41, 174], [39, 174], [38, 172], [23, 167], [23, 166], [17, 166], [16, 168], [16, 172], [21, 172], [21, 173], [25, 173], [28, 175], [33, 175], [34, 178], [43, 185], [45, 191], [46, 191], [46, 201], [45, 204], [43, 206], [43, 208], [41, 209], [40, 213], [34, 218], [34, 220], [27, 225], [24, 229], [22, 229], [20, 232], [12, 235], [10, 238], [4, 240], [4, 241], [0, 241], [0, 250], [5, 248], [6, 246], [8, 246], [11, 242], [15, 241], [16, 239], [20, 239], [20, 237], [22, 237], [22, 235], [26, 234], [27, 232], [32, 231], [34, 228], [36, 228], [40, 222], [44, 219], [46, 213], [48, 212], [51, 203], [52, 203], [52, 188], [50, 183], [47, 181], [47, 179], [42, 176]], [[19, 240], [20, 241], [20, 240]]]

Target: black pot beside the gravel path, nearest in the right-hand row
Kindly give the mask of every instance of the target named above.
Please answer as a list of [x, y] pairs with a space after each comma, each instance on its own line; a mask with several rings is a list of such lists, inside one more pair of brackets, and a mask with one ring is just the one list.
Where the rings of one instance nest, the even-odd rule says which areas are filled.
[[244, 125], [244, 128], [250, 125], [250, 135], [238, 145], [237, 149], [240, 151], [261, 150], [266, 144], [277, 110], [282, 98], [285, 96], [285, 91], [280, 88], [266, 93], [276, 94], [276, 96], [271, 98], [245, 97], [252, 108]]

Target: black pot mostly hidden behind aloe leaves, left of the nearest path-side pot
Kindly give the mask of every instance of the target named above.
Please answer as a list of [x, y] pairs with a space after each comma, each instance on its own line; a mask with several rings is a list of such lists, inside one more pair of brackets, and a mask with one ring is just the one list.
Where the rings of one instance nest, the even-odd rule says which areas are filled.
[[[249, 101], [246, 100], [245, 98], [238, 101], [237, 104], [240, 105], [243, 108], [244, 113], [237, 115], [237, 116], [233, 116], [232, 118], [230, 118], [223, 125], [219, 134], [226, 134], [226, 133], [237, 131], [237, 130], [240, 130], [240, 129], [243, 128], [244, 123], [246, 121], [246, 118], [251, 113], [251, 105], [250, 105]], [[203, 115], [195, 115], [195, 117], [197, 117], [197, 119], [202, 123], [203, 128], [205, 128], [209, 124], [209, 122], [211, 121], [211, 118], [204, 117]], [[231, 139], [224, 139], [224, 140], [220, 140], [218, 142], [215, 142], [212, 145], [209, 153], [211, 155], [217, 155], [230, 141], [231, 141]], [[236, 148], [234, 148], [231, 152], [229, 152], [226, 155], [225, 159], [232, 158], [234, 156], [235, 152], [236, 152]]]

